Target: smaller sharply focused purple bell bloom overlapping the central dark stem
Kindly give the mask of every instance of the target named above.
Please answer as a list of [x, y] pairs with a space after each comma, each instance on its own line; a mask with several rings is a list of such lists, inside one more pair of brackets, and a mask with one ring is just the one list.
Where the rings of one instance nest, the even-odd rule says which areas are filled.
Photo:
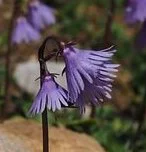
[[45, 107], [53, 112], [60, 110], [62, 106], [68, 106], [67, 100], [68, 92], [55, 82], [52, 75], [46, 75], [29, 113], [32, 115], [42, 113]]

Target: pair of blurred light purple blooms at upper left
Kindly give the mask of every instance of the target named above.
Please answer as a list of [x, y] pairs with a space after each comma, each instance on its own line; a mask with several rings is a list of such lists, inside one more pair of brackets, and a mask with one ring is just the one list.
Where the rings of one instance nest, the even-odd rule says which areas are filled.
[[55, 23], [54, 11], [39, 0], [28, 3], [28, 14], [16, 18], [12, 30], [12, 43], [29, 43], [40, 40], [40, 29]]

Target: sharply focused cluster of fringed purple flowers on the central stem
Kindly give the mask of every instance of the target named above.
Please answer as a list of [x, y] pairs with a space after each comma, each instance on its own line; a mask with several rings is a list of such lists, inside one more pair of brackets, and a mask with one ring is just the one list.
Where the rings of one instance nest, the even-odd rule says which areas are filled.
[[118, 64], [112, 63], [116, 50], [111, 47], [100, 51], [81, 50], [65, 45], [61, 55], [65, 61], [67, 79], [66, 91], [48, 74], [30, 109], [32, 114], [42, 113], [45, 106], [55, 111], [62, 106], [74, 104], [85, 111], [85, 105], [99, 105], [111, 99], [112, 82], [116, 77]]

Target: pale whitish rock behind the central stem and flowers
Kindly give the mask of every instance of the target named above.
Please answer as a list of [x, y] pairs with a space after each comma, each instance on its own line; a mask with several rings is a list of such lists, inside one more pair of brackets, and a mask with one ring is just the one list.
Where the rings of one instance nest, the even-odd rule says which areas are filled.
[[[63, 62], [48, 61], [47, 67], [51, 73], [60, 74], [57, 76], [56, 82], [66, 88], [65, 75], [62, 76], [62, 70], [64, 68]], [[24, 91], [35, 95], [39, 90], [39, 80], [35, 81], [39, 75], [39, 62], [35, 58], [30, 58], [27, 62], [19, 63], [14, 71], [14, 77], [17, 84]]]

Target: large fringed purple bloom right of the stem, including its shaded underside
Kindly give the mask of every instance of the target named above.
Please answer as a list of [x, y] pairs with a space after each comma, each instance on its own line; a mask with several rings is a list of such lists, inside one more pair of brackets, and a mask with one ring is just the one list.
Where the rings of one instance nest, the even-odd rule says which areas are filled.
[[63, 50], [69, 95], [81, 112], [89, 102], [97, 104], [111, 98], [111, 84], [116, 77], [113, 72], [119, 66], [111, 63], [114, 52], [113, 48], [93, 51], [72, 46]]

